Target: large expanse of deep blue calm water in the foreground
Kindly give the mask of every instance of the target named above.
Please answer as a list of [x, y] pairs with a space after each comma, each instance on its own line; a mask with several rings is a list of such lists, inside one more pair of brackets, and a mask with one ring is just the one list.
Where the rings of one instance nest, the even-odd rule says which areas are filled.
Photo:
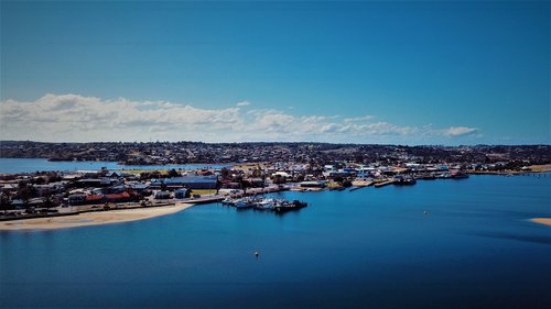
[[550, 185], [477, 176], [284, 192], [310, 206], [3, 232], [0, 307], [551, 308], [551, 228], [528, 221], [551, 217]]

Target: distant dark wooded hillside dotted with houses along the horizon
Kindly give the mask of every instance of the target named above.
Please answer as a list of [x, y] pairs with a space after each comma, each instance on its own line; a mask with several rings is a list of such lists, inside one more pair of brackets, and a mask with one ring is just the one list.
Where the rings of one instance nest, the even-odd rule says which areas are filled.
[[[50, 161], [107, 161], [123, 165], [235, 164], [287, 162], [323, 166], [357, 164], [461, 163], [475, 169], [515, 169], [548, 164], [550, 145], [377, 145], [329, 143], [97, 142], [44, 143], [0, 141], [0, 157]], [[493, 166], [494, 165], [494, 166]], [[495, 168], [494, 168], [495, 167]]]

